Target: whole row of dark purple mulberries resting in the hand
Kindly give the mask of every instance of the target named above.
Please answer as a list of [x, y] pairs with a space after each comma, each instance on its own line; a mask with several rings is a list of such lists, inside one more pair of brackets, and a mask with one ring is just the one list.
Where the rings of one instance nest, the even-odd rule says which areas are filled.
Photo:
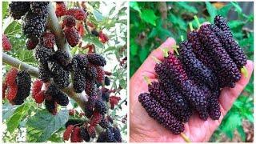
[[138, 96], [149, 116], [173, 134], [182, 133], [194, 113], [203, 121], [218, 120], [222, 88], [234, 88], [246, 76], [246, 55], [222, 16], [187, 38], [179, 43], [178, 56], [163, 50], [164, 60], [154, 67], [158, 82], [146, 78], [149, 93]]

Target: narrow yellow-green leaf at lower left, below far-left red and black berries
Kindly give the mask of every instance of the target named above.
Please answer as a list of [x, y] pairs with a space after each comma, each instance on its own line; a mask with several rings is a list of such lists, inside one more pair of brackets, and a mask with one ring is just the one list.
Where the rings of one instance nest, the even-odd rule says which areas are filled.
[[30, 105], [28, 103], [18, 106], [14, 111], [14, 114], [7, 120], [7, 130], [11, 133], [18, 127], [19, 122], [22, 121], [22, 118], [27, 114], [27, 111], [30, 110]]

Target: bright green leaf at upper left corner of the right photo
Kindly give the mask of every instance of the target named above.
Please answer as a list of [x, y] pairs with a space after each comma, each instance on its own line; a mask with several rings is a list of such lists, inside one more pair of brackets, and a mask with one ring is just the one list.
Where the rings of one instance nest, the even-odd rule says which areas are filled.
[[156, 25], [156, 20], [158, 17], [154, 14], [153, 10], [143, 10], [142, 14], [140, 14], [143, 21], [150, 23], [151, 25]]

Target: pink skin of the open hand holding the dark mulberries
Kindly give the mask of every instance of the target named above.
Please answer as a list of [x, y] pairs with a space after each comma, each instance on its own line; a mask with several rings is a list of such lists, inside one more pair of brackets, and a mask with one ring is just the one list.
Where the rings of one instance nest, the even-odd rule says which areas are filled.
[[[150, 78], [150, 82], [157, 81], [156, 73], [154, 71], [155, 58], [163, 60], [164, 56], [162, 48], [171, 49], [175, 45], [173, 38], [168, 38], [166, 42], [162, 43], [158, 49], [153, 50], [142, 66], [136, 71], [132, 78], [130, 78], [130, 142], [185, 142], [181, 135], [174, 135], [169, 130], [158, 124], [153, 118], [146, 113], [146, 110], [138, 102], [138, 95], [143, 92], [148, 92], [147, 83], [143, 76]], [[252, 61], [247, 61], [246, 69], [248, 70], [248, 77], [242, 78], [236, 82], [235, 87], [223, 88], [219, 99], [221, 106], [221, 117], [218, 120], [208, 118], [202, 121], [194, 114], [189, 122], [185, 123], [184, 134], [191, 142], [208, 142], [214, 130], [218, 128], [228, 110], [230, 110], [233, 102], [238, 98], [238, 95], [245, 88], [250, 80], [254, 68]]]

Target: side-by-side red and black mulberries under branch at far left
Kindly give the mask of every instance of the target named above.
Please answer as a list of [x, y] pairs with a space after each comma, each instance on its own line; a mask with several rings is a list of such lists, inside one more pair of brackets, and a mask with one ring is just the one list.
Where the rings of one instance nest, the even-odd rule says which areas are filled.
[[21, 105], [30, 95], [31, 78], [25, 70], [11, 68], [6, 73], [6, 79], [3, 83], [3, 95], [13, 105]]

